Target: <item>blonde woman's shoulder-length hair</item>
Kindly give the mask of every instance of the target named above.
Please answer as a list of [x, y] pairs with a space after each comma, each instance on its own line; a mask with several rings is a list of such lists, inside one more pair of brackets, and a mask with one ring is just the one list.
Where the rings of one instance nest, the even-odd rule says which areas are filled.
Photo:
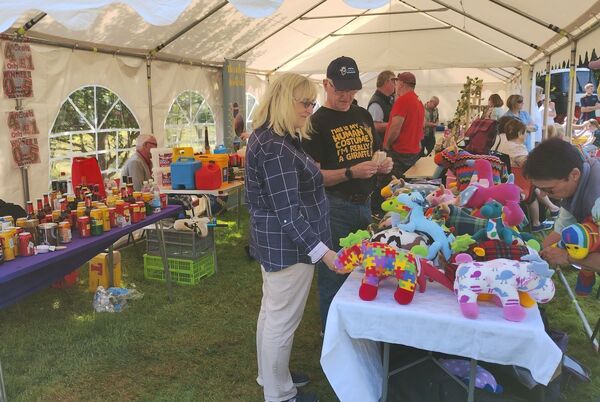
[[278, 135], [285, 133], [309, 138], [310, 119], [303, 127], [296, 128], [296, 102], [314, 102], [317, 87], [308, 78], [299, 74], [284, 73], [277, 76], [254, 111], [254, 129], [267, 125]]

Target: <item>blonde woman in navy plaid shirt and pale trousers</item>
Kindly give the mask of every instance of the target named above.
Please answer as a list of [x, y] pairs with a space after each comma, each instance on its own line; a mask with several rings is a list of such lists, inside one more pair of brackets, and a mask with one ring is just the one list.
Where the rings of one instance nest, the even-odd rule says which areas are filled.
[[289, 370], [294, 333], [312, 283], [314, 264], [333, 269], [329, 204], [323, 175], [302, 149], [317, 90], [307, 78], [283, 74], [254, 114], [246, 153], [250, 253], [261, 264], [257, 382], [265, 401], [318, 401], [297, 387], [308, 377]]

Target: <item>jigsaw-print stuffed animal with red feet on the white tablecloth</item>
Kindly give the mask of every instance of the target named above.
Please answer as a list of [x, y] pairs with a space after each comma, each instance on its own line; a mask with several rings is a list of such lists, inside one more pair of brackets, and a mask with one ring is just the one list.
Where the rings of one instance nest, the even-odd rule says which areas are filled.
[[408, 304], [412, 301], [417, 283], [419, 290], [425, 291], [425, 277], [430, 277], [448, 289], [452, 289], [452, 283], [426, 260], [410, 251], [396, 249], [385, 243], [363, 240], [345, 247], [338, 252], [335, 266], [336, 270], [344, 273], [357, 267], [365, 269], [358, 294], [361, 299], [367, 301], [377, 296], [380, 281], [391, 276], [398, 282], [394, 299], [399, 304]]

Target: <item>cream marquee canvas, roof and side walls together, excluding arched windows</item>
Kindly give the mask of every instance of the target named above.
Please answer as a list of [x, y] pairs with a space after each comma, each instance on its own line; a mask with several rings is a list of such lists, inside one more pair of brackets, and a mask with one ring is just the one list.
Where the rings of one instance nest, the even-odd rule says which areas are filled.
[[[358, 62], [361, 105], [379, 71], [412, 70], [417, 93], [440, 96], [448, 119], [467, 75], [484, 79], [484, 96], [528, 96], [548, 58], [564, 66], [573, 49], [577, 62], [587, 60], [600, 43], [596, 0], [0, 0], [0, 9], [3, 42], [25, 33], [35, 64], [34, 97], [23, 100], [40, 131], [41, 163], [28, 168], [32, 199], [48, 188], [48, 138], [61, 105], [85, 86], [117, 94], [159, 142], [174, 99], [197, 91], [222, 138], [224, 59], [246, 61], [246, 89], [259, 100], [269, 75], [319, 80], [340, 55]], [[15, 104], [2, 93], [2, 111]], [[22, 203], [5, 123], [0, 156], [0, 198]]]

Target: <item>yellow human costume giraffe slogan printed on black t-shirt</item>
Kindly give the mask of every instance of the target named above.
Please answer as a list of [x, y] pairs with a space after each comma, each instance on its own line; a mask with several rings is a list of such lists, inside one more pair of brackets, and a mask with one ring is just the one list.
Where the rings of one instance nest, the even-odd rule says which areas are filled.
[[331, 130], [331, 138], [338, 162], [371, 159], [373, 156], [373, 133], [369, 126], [354, 123], [336, 127]]

